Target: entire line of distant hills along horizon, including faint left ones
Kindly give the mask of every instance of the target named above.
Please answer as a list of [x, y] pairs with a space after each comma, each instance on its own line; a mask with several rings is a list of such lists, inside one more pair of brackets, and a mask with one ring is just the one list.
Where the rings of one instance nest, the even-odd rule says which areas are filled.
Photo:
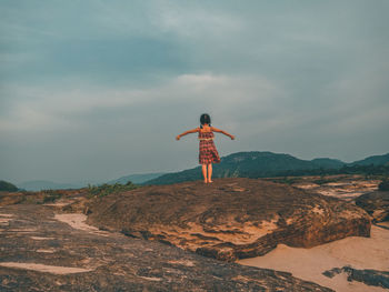
[[[220, 164], [227, 165], [226, 168]], [[315, 158], [312, 160], [298, 159], [287, 153], [273, 153], [270, 151], [241, 151], [222, 157], [220, 164], [213, 165], [215, 178], [260, 178], [272, 175], [288, 175], [289, 172], [299, 172], [302, 170], [339, 170], [343, 167], [363, 167], [363, 165], [385, 165], [389, 167], [389, 153], [382, 155], [370, 155], [362, 160], [353, 162], [343, 162], [339, 159]], [[256, 175], [250, 172], [256, 168]], [[169, 184], [183, 181], [200, 180], [200, 167], [187, 169], [178, 172], [152, 172], [123, 175], [119, 179], [97, 183], [121, 183], [126, 184], [129, 180], [137, 184]], [[221, 170], [223, 169], [223, 170]], [[80, 189], [88, 185], [87, 182], [78, 183], [57, 183], [48, 180], [27, 181], [14, 183], [18, 189], [27, 191], [40, 190], [60, 190], [60, 189]]]

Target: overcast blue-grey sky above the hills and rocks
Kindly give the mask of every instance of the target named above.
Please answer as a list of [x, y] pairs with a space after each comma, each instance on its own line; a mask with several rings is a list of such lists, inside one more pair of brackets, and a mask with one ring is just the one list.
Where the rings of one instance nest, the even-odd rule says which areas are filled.
[[0, 180], [103, 182], [221, 157], [389, 152], [387, 0], [2, 0]]

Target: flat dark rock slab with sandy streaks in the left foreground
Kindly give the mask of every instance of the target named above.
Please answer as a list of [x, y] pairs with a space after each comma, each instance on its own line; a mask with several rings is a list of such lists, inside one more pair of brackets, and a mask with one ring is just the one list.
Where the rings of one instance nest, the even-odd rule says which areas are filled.
[[0, 208], [0, 291], [331, 291], [290, 273], [100, 231], [82, 214], [53, 210]]

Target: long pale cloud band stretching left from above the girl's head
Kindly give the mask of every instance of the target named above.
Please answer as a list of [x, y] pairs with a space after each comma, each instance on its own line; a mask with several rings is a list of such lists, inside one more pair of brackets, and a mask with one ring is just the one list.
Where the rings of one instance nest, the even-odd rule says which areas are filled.
[[[275, 100], [281, 98], [281, 91], [263, 77], [243, 78], [211, 73], [182, 74], [158, 87], [139, 90], [13, 88], [8, 89], [8, 92], [17, 98], [11, 102], [11, 110], [1, 118], [2, 134], [59, 130], [71, 127], [72, 123], [76, 127], [79, 122], [92, 122], [88, 118], [83, 120], [83, 117], [96, 111], [112, 112], [123, 108], [130, 110], [143, 104], [169, 104], [172, 111], [174, 108], [181, 107], [183, 110], [188, 104], [198, 104], [197, 108], [213, 109], [216, 113], [239, 110], [250, 114], [253, 104], [260, 102], [260, 108], [266, 111]], [[237, 104], [237, 99], [240, 104]], [[255, 108], [255, 112], [261, 109]], [[117, 115], [111, 119], [117, 119]], [[240, 119], [243, 121], [246, 114]]]

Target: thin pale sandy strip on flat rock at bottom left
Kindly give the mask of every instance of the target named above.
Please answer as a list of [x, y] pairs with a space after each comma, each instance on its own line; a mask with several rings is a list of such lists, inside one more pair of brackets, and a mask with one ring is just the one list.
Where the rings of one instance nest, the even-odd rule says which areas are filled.
[[90, 272], [90, 269], [82, 268], [72, 268], [72, 266], [62, 266], [62, 265], [48, 265], [41, 263], [20, 263], [20, 262], [0, 262], [1, 266], [32, 270], [43, 273], [52, 274], [72, 274], [72, 273], [84, 273]]

